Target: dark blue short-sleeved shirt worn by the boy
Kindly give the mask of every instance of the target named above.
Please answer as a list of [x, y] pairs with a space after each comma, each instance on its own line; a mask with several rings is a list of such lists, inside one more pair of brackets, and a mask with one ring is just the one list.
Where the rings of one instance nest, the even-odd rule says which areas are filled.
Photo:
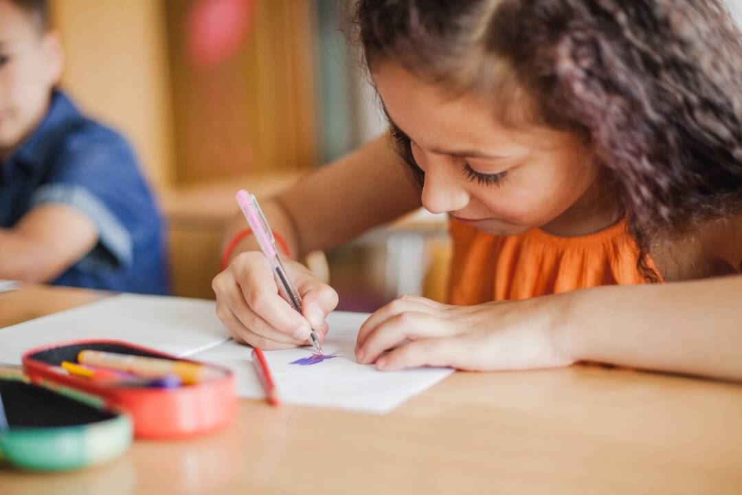
[[98, 243], [53, 284], [165, 294], [162, 220], [131, 146], [82, 116], [61, 91], [41, 125], [0, 165], [0, 227], [62, 203], [87, 215]]

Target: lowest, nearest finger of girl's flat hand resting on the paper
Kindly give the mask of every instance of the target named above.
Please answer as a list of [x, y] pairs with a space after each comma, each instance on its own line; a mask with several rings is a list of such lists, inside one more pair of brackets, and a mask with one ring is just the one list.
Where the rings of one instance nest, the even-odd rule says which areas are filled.
[[456, 367], [465, 352], [461, 340], [456, 337], [439, 337], [410, 342], [378, 358], [376, 368], [397, 371], [421, 366]]

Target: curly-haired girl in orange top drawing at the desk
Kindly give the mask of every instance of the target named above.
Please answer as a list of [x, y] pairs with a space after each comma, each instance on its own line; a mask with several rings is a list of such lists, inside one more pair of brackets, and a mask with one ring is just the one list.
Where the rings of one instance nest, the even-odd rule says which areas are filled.
[[[390, 135], [266, 215], [295, 256], [420, 205], [450, 215], [454, 246], [452, 305], [379, 309], [358, 362], [742, 379], [734, 319], [697, 331], [742, 279], [595, 288], [742, 269], [742, 42], [718, 0], [361, 0], [356, 24]], [[214, 278], [222, 321], [258, 347], [304, 344], [310, 326], [324, 338], [336, 293], [289, 263], [293, 312], [256, 246], [237, 243]], [[673, 298], [685, 312], [669, 314]]]

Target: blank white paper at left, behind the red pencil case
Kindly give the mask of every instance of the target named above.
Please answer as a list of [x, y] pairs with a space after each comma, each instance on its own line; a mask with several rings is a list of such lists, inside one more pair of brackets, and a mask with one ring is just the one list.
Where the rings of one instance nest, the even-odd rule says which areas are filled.
[[0, 328], [0, 364], [56, 342], [105, 338], [185, 357], [229, 339], [214, 301], [121, 294]]

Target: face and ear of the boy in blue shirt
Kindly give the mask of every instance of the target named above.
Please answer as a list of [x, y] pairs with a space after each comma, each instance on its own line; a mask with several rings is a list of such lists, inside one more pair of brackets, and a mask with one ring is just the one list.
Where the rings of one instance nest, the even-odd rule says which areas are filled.
[[43, 119], [62, 65], [56, 36], [42, 33], [12, 1], [0, 0], [0, 163]]

